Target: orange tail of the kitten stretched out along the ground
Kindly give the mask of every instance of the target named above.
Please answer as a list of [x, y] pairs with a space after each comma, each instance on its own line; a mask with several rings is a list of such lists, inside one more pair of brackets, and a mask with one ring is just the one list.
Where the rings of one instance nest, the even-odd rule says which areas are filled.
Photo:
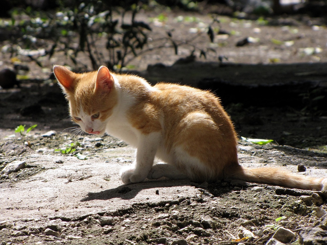
[[230, 178], [303, 190], [327, 190], [327, 178], [314, 178], [285, 172], [280, 168], [245, 168], [238, 165]]

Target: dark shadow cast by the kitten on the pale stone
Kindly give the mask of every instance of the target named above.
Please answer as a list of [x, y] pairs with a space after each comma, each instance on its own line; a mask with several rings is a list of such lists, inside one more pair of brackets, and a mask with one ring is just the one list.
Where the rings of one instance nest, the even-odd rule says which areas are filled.
[[[91, 200], [110, 200], [112, 198], [120, 198], [123, 200], [130, 200], [134, 198], [141, 190], [163, 187], [176, 187], [176, 186], [194, 186], [194, 183], [189, 180], [148, 180], [142, 183], [121, 185], [116, 188], [103, 190], [100, 192], [89, 192], [88, 196], [83, 198], [81, 202]], [[159, 194], [158, 190], [153, 190], [155, 194]]]

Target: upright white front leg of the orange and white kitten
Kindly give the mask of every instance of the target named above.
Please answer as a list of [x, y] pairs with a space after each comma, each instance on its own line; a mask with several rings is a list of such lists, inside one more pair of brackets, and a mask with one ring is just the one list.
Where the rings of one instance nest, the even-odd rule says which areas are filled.
[[131, 166], [122, 168], [120, 171], [124, 184], [138, 183], [146, 179], [153, 165], [161, 139], [160, 132], [141, 135], [137, 143], [135, 162]]

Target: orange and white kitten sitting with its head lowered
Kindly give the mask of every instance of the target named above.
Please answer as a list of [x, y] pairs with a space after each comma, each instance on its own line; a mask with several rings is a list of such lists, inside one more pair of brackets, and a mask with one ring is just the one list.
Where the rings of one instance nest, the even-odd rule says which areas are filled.
[[[107, 133], [136, 148], [136, 160], [120, 172], [124, 184], [163, 176], [197, 183], [236, 178], [327, 190], [327, 178], [239, 165], [234, 126], [209, 91], [167, 83], [151, 86], [141, 77], [116, 74], [105, 66], [74, 73], [55, 65], [53, 72], [73, 122], [86, 133]], [[154, 164], [155, 157], [163, 162]]]

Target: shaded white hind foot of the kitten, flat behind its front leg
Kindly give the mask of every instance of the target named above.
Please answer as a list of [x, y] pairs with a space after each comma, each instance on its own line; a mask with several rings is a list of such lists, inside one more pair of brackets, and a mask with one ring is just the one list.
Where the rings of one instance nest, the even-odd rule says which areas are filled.
[[178, 170], [175, 166], [159, 162], [152, 166], [151, 171], [147, 175], [148, 179], [159, 179], [167, 177], [169, 179], [187, 179], [187, 175]]

